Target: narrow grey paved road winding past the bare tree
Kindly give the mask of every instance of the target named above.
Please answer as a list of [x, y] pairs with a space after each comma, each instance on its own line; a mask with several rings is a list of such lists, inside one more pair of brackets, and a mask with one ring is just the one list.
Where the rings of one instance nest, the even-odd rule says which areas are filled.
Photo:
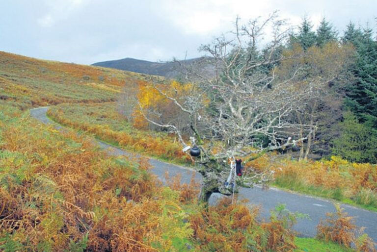
[[[34, 108], [30, 110], [32, 117], [38, 119], [44, 124], [52, 123], [46, 116], [48, 107]], [[106, 143], [99, 142], [101, 148], [108, 150], [109, 153], [114, 155], [128, 155], [126, 151], [113, 148]], [[164, 180], [165, 171], [169, 172], [169, 175], [174, 176], [176, 174], [182, 174], [182, 182], [189, 182], [192, 171], [188, 168], [165, 163], [153, 158], [149, 159], [150, 164], [154, 167], [152, 172], [156, 174], [162, 181]], [[201, 181], [201, 175], [196, 173], [195, 178], [197, 181]], [[215, 194], [211, 201], [214, 201], [216, 197], [220, 195]], [[262, 207], [262, 218], [269, 217], [269, 211], [273, 209], [278, 203], [284, 203], [287, 208], [293, 212], [305, 213], [310, 216], [310, 219], [299, 220], [295, 225], [295, 230], [300, 233], [301, 236], [313, 237], [316, 235], [316, 226], [320, 219], [325, 218], [326, 212], [335, 211], [335, 207], [332, 202], [323, 199], [318, 199], [310, 196], [299, 195], [296, 193], [285, 192], [276, 188], [270, 188], [269, 190], [262, 190], [260, 187], [254, 187], [252, 189], [242, 188], [240, 191], [240, 198], [249, 200], [250, 204], [260, 205]], [[347, 204], [342, 204], [342, 207], [350, 216], [355, 217], [356, 225], [358, 227], [365, 227], [365, 232], [375, 241], [377, 241], [377, 213], [359, 209]]]

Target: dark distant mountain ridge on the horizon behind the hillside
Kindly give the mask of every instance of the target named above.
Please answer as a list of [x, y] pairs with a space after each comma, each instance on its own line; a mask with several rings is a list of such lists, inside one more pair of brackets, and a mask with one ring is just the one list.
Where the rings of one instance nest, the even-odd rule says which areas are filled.
[[176, 77], [179, 74], [179, 64], [191, 65], [195, 62], [201, 61], [203, 58], [193, 58], [188, 60], [180, 60], [172, 62], [151, 62], [146, 60], [124, 58], [118, 60], [109, 60], [97, 62], [92, 66], [115, 68], [124, 71], [130, 71], [147, 75], [158, 75], [165, 77]]

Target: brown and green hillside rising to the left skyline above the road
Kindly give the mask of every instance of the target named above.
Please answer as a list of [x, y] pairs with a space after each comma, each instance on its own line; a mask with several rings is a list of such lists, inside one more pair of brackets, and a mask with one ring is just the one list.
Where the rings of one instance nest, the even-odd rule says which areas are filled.
[[135, 73], [0, 52], [0, 100], [21, 109], [62, 102], [116, 101]]

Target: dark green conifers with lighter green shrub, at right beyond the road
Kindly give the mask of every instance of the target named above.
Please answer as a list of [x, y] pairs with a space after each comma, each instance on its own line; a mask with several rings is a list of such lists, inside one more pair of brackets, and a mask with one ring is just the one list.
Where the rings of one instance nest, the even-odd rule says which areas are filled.
[[[342, 75], [329, 83], [321, 99], [316, 98], [317, 134], [312, 157], [340, 155], [355, 162], [377, 162], [377, 41], [369, 27], [350, 22], [342, 36], [325, 18], [317, 30], [305, 17], [289, 46], [303, 50], [323, 48], [328, 43], [351, 45], [352, 62]], [[303, 146], [301, 152], [303, 151]], [[300, 156], [302, 157], [302, 155]]]

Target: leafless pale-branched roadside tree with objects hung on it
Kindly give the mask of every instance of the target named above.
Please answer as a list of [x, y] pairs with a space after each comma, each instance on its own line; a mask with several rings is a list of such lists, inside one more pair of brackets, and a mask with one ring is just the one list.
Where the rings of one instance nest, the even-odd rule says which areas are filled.
[[[259, 43], [266, 30], [271, 31], [271, 41], [263, 46]], [[288, 32], [276, 13], [262, 22], [257, 19], [246, 25], [240, 25], [237, 19], [234, 32], [201, 47], [215, 76], [185, 70], [187, 81], [195, 80], [196, 92], [177, 97], [164, 91], [165, 84], [152, 80], [156, 90], [186, 114], [190, 144], [202, 151], [196, 166], [203, 176], [201, 202], [208, 202], [214, 192], [231, 195], [237, 192], [236, 185], [249, 187], [269, 180], [269, 171], [252, 168], [237, 176], [236, 159], [248, 161], [295, 145], [313, 130], [310, 125], [293, 120], [292, 114], [304, 107], [315, 87], [328, 80], [319, 76], [297, 78], [302, 75], [301, 64], [291, 64], [284, 78], [277, 75], [281, 62], [301, 56], [282, 53]], [[175, 132], [183, 147], [188, 146], [176, 125], [157, 123], [146, 116], [146, 111], [143, 113], [150, 123]]]

